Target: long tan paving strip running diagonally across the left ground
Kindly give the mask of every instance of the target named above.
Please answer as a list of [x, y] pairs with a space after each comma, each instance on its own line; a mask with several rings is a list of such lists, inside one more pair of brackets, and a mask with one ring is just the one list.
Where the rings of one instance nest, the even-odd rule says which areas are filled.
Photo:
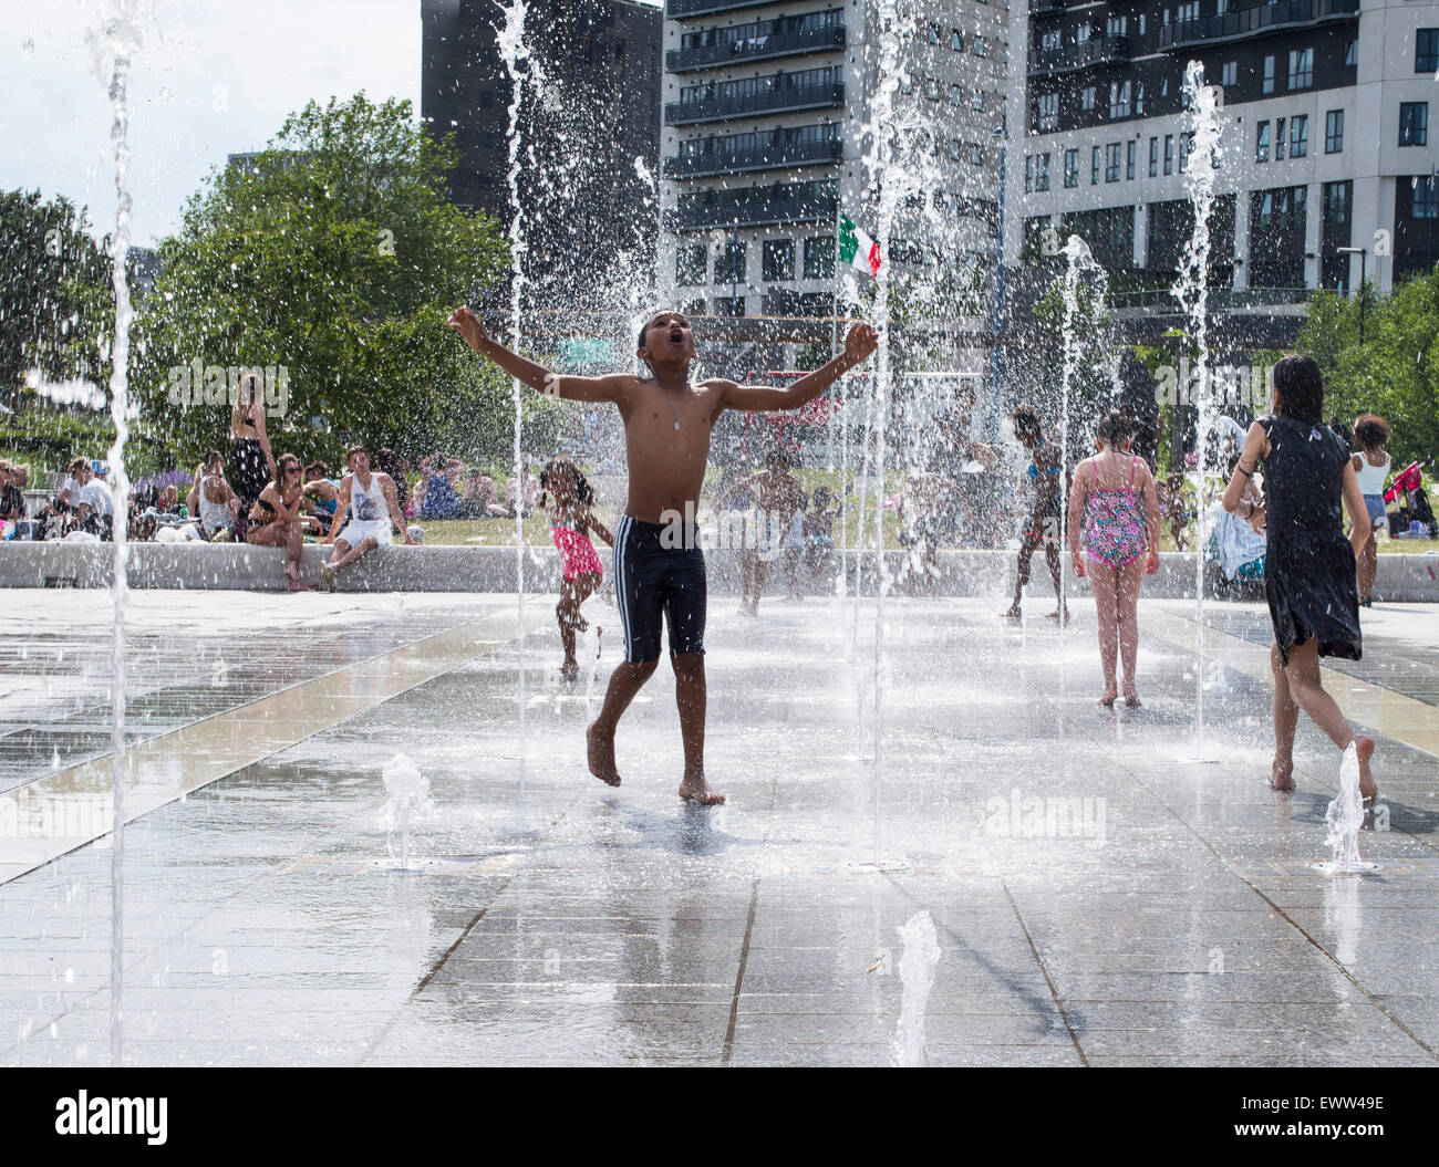
[[[534, 628], [543, 627], [547, 619], [547, 614], [530, 614], [525, 619], [525, 635], [534, 631]], [[224, 713], [212, 714], [128, 747], [125, 752], [125, 770], [130, 778], [130, 789], [125, 795], [127, 803], [132, 809], [127, 815], [125, 824], [130, 825], [161, 806], [167, 806], [204, 786], [229, 778], [246, 766], [253, 766], [268, 757], [273, 757], [276, 753], [291, 749], [318, 733], [334, 729], [361, 713], [368, 713], [417, 686], [445, 675], [471, 660], [489, 655], [518, 640], [518, 632], [514, 627], [507, 628], [504, 624], [498, 628], [491, 627], [496, 621], [518, 624], [512, 609], [491, 612], [479, 619], [445, 628], [376, 657], [354, 661], [350, 665], [308, 681], [286, 686]], [[488, 635], [484, 635], [486, 632]], [[435, 652], [436, 648], [440, 650], [437, 654]], [[389, 663], [391, 668], [389, 675], [376, 684], [373, 678], [363, 674], [366, 670], [373, 670], [381, 661]], [[404, 673], [403, 665], [407, 661], [420, 661], [420, 667], [414, 668], [413, 673]], [[400, 665], [400, 668], [397, 670], [396, 665]], [[358, 680], [357, 693], [335, 696], [321, 691], [318, 696], [315, 694], [317, 688], [322, 690], [327, 686], [332, 686], [337, 680], [347, 677]], [[307, 697], [314, 697], [315, 700], [307, 701]], [[317, 717], [314, 706], [327, 703], [332, 707]], [[308, 714], [307, 704], [309, 706]], [[266, 737], [262, 720], [246, 720], [259, 707], [285, 709], [286, 706], [298, 706], [295, 711], [301, 714], [301, 720], [309, 721], [309, 724], [302, 727], [304, 732], [285, 732]], [[278, 720], [294, 721], [295, 719]], [[223, 737], [226, 732], [229, 732], [229, 742]], [[236, 737], [242, 739], [239, 744], [235, 742]], [[191, 743], [199, 744], [201, 747], [200, 753], [206, 755], [206, 762], [200, 766], [186, 765], [187, 747]], [[214, 749], [216, 746], [219, 749]], [[0, 795], [0, 799], [14, 801], [17, 824], [29, 822], [30, 808], [36, 801], [58, 801], [63, 815], [63, 799], [68, 795], [79, 793], [102, 798], [112, 790], [112, 753], [106, 753], [53, 775], [45, 775]], [[167, 773], [177, 769], [167, 765], [176, 757], [180, 759], [178, 772]], [[153, 779], [145, 782], [141, 779], [147, 763], [151, 769], [163, 772], [158, 782]], [[94, 829], [102, 825], [104, 829]], [[105, 838], [112, 831], [112, 825], [105, 824], [102, 815], [96, 815], [96, 821], [89, 826], [91, 829], [82, 829], [75, 835], [40, 835], [39, 845], [33, 845], [36, 844], [36, 838], [27, 829], [17, 831], [13, 838], [0, 839], [0, 885], [45, 867], [72, 851], [88, 847], [96, 839]], [[27, 844], [32, 845], [26, 847]]]

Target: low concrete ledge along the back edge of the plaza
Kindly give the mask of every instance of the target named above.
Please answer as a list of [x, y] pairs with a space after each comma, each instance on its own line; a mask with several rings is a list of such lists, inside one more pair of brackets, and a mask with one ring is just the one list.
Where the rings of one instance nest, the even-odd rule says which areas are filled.
[[[609, 571], [609, 549], [602, 548]], [[856, 552], [846, 552], [846, 558]], [[328, 548], [307, 546], [302, 575], [318, 579]], [[718, 595], [740, 591], [740, 556], [732, 550], [705, 553], [709, 589]], [[875, 561], [859, 553], [861, 591], [873, 594]], [[921, 585], [905, 579], [908, 553], [886, 552], [886, 565], [899, 594], [967, 596], [1003, 596], [1014, 586], [1012, 550], [941, 550], [938, 571]], [[0, 545], [0, 588], [108, 588], [114, 548], [108, 543], [29, 543]], [[850, 563], [853, 561], [850, 559]], [[802, 569], [800, 589], [807, 595], [833, 595], [840, 568], [835, 552], [812, 573]], [[279, 548], [252, 548], [233, 543], [135, 543], [130, 550], [131, 588], [283, 591], [285, 553]], [[1068, 573], [1068, 556], [1065, 556]], [[1213, 594], [1213, 572], [1206, 595]], [[766, 591], [783, 595], [789, 586], [784, 558], [771, 561]], [[1086, 595], [1089, 585], [1069, 576], [1073, 595]], [[555, 592], [560, 588], [560, 562], [553, 548], [525, 550], [525, 591]], [[478, 546], [393, 546], [374, 552], [340, 575], [345, 592], [514, 592], [517, 589], [515, 549]], [[1052, 596], [1045, 556], [1032, 562], [1029, 594]], [[1167, 552], [1160, 556], [1160, 571], [1144, 581], [1145, 596], [1181, 599], [1194, 595], [1194, 556]], [[1249, 586], [1249, 598], [1262, 599], [1262, 585]], [[1374, 599], [1390, 602], [1439, 602], [1439, 555], [1380, 555]]]

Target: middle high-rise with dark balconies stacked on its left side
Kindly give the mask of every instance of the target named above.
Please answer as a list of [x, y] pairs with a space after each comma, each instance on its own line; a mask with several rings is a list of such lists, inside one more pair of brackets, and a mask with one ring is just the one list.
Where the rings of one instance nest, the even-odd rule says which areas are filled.
[[[977, 328], [997, 254], [1007, 20], [983, 0], [666, 0], [662, 285], [691, 312], [813, 319], [827, 336], [837, 214], [873, 234], [876, 183], [892, 181], [896, 282], [963, 273]], [[892, 114], [876, 126], [882, 83]], [[888, 178], [865, 161], [875, 132], [891, 135]]]

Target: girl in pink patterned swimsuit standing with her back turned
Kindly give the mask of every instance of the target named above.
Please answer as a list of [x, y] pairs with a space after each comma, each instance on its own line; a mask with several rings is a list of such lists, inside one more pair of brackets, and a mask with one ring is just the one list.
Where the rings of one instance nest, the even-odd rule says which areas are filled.
[[1099, 453], [1079, 463], [1069, 493], [1069, 555], [1075, 575], [1088, 576], [1094, 591], [1104, 671], [1099, 704], [1107, 709], [1120, 696], [1117, 657], [1124, 661], [1124, 704], [1140, 706], [1134, 684], [1140, 584], [1160, 569], [1158, 492], [1148, 463], [1130, 451], [1132, 444], [1132, 421], [1118, 412], [1104, 418], [1095, 433]]

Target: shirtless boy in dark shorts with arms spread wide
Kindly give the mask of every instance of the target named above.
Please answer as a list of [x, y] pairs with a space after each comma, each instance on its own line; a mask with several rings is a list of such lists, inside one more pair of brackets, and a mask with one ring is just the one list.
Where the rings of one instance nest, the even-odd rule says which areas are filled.
[[[855, 325], [843, 354], [784, 388], [771, 388], [722, 378], [691, 382], [695, 338], [679, 312], [659, 312], [640, 331], [637, 355], [652, 377], [561, 377], [492, 341], [469, 308], [458, 309], [449, 325], [481, 356], [540, 392], [610, 401], [619, 408], [629, 466], [629, 497], [614, 526], [614, 598], [625, 660], [610, 674], [604, 707], [586, 732], [590, 773], [610, 786], [620, 785], [614, 730], [659, 665], [663, 617], [685, 747], [679, 796], [702, 806], [724, 802], [705, 780], [705, 558], [694, 529], [709, 433], [725, 410], [797, 410], [819, 397], [875, 351], [875, 329]], [[675, 516], [684, 516], [682, 526]]]

